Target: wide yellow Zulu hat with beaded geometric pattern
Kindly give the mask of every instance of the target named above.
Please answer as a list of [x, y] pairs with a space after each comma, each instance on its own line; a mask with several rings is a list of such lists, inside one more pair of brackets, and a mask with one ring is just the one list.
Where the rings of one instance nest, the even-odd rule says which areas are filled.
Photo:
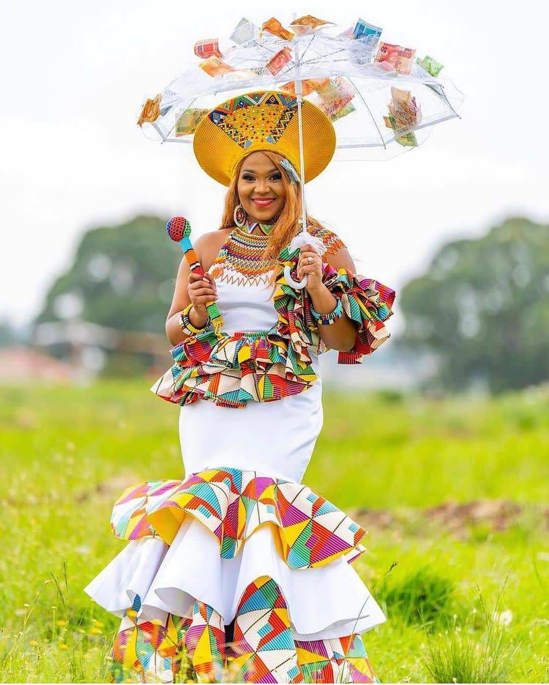
[[[326, 168], [335, 151], [335, 130], [313, 103], [301, 105], [305, 183]], [[240, 161], [271, 150], [300, 173], [297, 99], [290, 92], [260, 90], [238, 95], [205, 115], [194, 132], [193, 149], [204, 171], [229, 186]]]

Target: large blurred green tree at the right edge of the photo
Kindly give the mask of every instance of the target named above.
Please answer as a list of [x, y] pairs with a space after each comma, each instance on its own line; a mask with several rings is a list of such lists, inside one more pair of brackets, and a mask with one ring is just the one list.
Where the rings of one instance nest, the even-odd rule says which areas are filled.
[[397, 349], [435, 353], [424, 386], [492, 393], [549, 379], [549, 226], [508, 219], [455, 240], [400, 292]]

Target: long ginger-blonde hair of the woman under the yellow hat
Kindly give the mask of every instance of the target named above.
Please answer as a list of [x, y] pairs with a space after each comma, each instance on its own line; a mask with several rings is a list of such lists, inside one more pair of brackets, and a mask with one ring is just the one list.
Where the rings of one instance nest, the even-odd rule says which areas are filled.
[[[272, 227], [272, 231], [269, 234], [269, 239], [267, 242], [267, 247], [263, 253], [263, 258], [265, 260], [277, 258], [279, 252], [283, 247], [288, 245], [292, 238], [301, 229], [298, 219], [301, 219], [301, 184], [290, 183], [288, 179], [288, 174], [284, 167], [281, 165], [280, 160], [282, 155], [277, 152], [272, 152], [270, 150], [261, 150], [266, 157], [277, 167], [282, 175], [282, 184], [285, 190], [285, 202], [282, 211], [279, 213], [275, 224]], [[223, 208], [222, 222], [220, 229], [232, 228], [234, 227], [234, 210], [240, 204], [240, 199], [238, 197], [238, 178], [240, 176], [240, 169], [242, 169], [242, 164], [244, 163], [244, 158], [238, 164], [235, 173], [231, 179], [231, 185], [227, 190], [227, 195], [225, 195], [225, 206]], [[312, 216], [306, 212], [307, 226], [312, 229], [322, 228], [320, 221], [317, 221]], [[270, 284], [275, 282], [276, 271], [273, 272]]]

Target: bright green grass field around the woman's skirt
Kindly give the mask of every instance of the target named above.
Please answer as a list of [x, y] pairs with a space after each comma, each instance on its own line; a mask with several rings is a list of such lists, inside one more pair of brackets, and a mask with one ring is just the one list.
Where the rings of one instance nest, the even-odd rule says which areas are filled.
[[[82, 588], [125, 545], [112, 503], [183, 475], [177, 407], [146, 388], [0, 389], [2, 682], [106, 680], [119, 619]], [[324, 390], [304, 482], [370, 531], [355, 568], [389, 617], [363, 636], [382, 682], [547, 682], [548, 466], [548, 388]]]

